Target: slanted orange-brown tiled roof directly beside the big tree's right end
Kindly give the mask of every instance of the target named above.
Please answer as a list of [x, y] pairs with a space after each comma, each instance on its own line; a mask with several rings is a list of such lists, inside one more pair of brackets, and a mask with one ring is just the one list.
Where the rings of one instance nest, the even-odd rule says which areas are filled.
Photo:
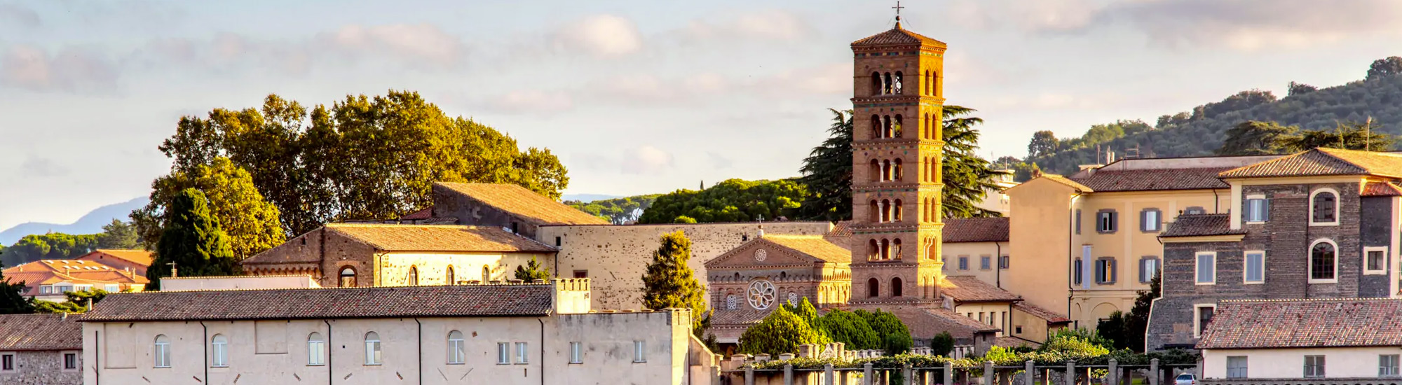
[[449, 182], [435, 185], [467, 195], [503, 211], [536, 220], [540, 224], [608, 224], [600, 217], [579, 211], [517, 185]]

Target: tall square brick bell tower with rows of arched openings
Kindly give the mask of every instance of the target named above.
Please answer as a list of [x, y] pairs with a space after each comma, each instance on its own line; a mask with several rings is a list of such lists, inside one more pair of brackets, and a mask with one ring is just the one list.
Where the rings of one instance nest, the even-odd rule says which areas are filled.
[[899, 14], [852, 42], [851, 305], [939, 304], [944, 53]]

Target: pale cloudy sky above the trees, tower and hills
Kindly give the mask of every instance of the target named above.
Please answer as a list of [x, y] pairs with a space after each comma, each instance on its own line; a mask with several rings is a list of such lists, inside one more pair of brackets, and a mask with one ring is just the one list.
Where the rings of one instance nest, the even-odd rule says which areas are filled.
[[[894, 1], [0, 0], [0, 228], [149, 193], [181, 116], [412, 90], [547, 147], [566, 193], [798, 175]], [[918, 0], [980, 154], [1402, 55], [1394, 0]]]

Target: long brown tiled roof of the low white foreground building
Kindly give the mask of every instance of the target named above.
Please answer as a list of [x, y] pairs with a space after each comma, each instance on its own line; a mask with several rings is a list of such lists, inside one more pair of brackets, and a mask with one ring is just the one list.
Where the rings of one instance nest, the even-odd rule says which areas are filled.
[[143, 291], [107, 295], [84, 322], [540, 316], [548, 284]]

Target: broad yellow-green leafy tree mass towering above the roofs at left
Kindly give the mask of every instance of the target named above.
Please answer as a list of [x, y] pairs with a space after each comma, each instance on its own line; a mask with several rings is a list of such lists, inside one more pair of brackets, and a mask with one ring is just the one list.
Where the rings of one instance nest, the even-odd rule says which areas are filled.
[[393, 218], [428, 206], [432, 183], [516, 183], [559, 197], [565, 167], [544, 148], [465, 118], [418, 92], [348, 95], [310, 111], [269, 95], [261, 109], [185, 116], [160, 150], [174, 172], [229, 158], [301, 234], [328, 221]]

